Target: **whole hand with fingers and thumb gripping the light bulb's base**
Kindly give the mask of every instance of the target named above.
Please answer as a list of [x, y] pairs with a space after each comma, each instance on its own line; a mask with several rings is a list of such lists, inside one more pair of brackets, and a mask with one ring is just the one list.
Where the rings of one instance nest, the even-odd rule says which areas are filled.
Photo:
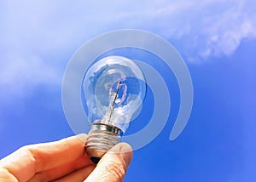
[[119, 143], [97, 164], [84, 153], [86, 134], [26, 145], [0, 160], [0, 181], [122, 181], [132, 149]]

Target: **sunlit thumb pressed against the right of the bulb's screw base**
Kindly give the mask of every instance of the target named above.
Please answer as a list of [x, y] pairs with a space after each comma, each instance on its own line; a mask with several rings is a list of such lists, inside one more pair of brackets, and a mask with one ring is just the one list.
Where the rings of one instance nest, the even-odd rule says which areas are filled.
[[126, 143], [114, 145], [98, 162], [96, 168], [86, 181], [119, 182], [125, 178], [125, 173], [132, 158], [131, 146]]

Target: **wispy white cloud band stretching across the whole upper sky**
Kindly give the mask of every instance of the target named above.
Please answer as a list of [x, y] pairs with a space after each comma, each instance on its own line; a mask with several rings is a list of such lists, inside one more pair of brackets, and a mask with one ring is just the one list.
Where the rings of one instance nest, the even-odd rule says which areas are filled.
[[22, 95], [42, 83], [60, 86], [76, 48], [114, 29], [154, 31], [175, 42], [186, 60], [233, 54], [243, 39], [256, 37], [255, 5], [253, 0], [2, 1], [0, 94]]

